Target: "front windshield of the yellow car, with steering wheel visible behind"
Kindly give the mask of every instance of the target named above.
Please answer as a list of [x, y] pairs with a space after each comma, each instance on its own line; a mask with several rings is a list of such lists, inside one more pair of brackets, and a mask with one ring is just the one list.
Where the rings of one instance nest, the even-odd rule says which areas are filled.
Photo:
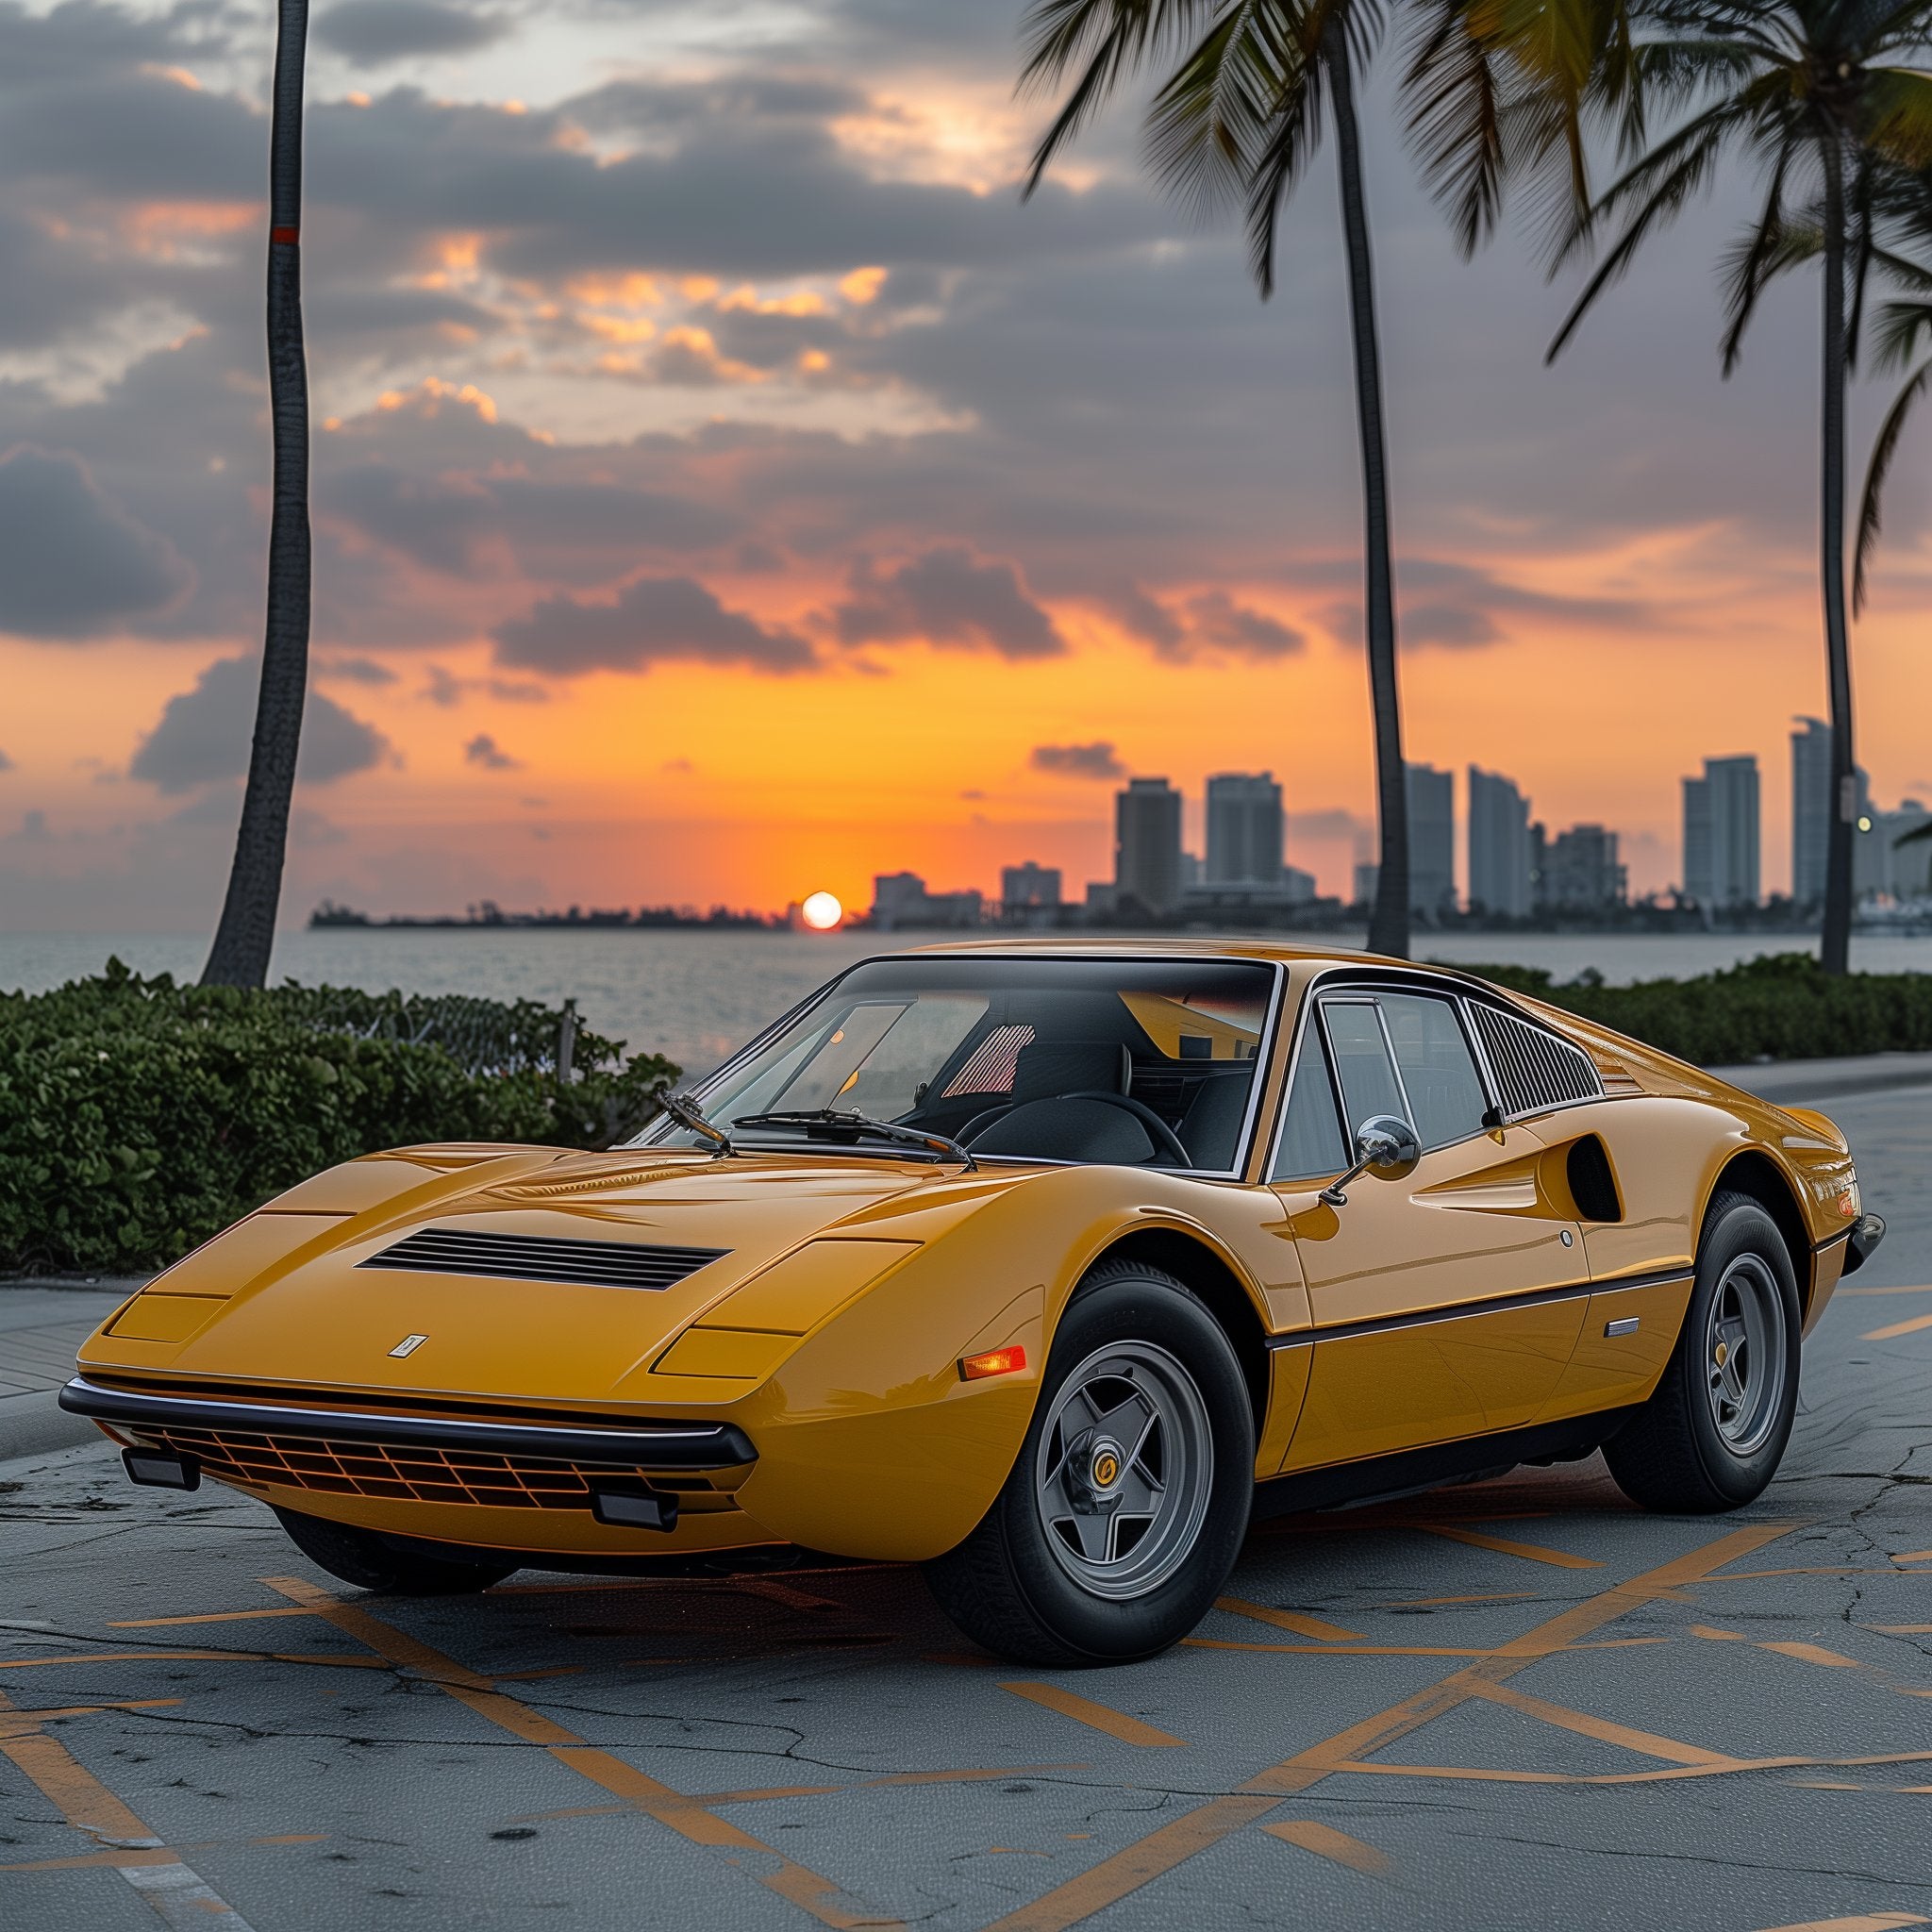
[[[873, 960], [696, 1097], [740, 1146], [811, 1132], [734, 1126], [752, 1115], [833, 1109], [945, 1134], [980, 1159], [1229, 1173], [1273, 987], [1271, 966], [1238, 960]], [[639, 1144], [701, 1142], [661, 1121]]]

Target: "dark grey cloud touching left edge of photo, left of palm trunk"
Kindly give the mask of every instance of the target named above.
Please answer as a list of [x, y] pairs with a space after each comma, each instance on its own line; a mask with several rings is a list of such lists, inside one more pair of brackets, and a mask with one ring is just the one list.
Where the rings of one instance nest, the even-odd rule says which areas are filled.
[[156, 616], [193, 572], [164, 537], [114, 504], [64, 450], [0, 456], [0, 630], [99, 638]]

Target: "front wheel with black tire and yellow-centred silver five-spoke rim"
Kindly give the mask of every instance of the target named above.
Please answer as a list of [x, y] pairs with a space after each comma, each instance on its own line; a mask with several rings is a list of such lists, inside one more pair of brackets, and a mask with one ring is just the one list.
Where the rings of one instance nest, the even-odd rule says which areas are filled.
[[[1130, 1393], [1103, 1406], [1113, 1389]], [[1122, 1439], [1107, 1476], [1111, 1426]], [[1095, 1480], [1115, 1492], [1111, 1517], [1109, 1492], [1082, 1488]], [[1080, 1515], [1049, 1528], [1076, 1492], [1086, 1501], [1065, 1509]], [[1136, 1495], [1146, 1519], [1126, 1507]], [[1252, 1503], [1254, 1408], [1221, 1325], [1173, 1275], [1101, 1262], [1053, 1337], [1012, 1474], [972, 1536], [925, 1565], [925, 1580], [976, 1644], [1014, 1663], [1130, 1663], [1200, 1623], [1235, 1567]], [[1084, 1553], [1090, 1532], [1099, 1555]]]

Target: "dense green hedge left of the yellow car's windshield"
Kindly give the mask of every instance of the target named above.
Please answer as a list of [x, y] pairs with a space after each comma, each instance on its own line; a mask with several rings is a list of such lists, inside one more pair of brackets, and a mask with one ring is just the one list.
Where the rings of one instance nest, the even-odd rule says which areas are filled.
[[605, 1148], [678, 1068], [529, 1001], [104, 976], [0, 995], [0, 1273], [141, 1273], [336, 1161], [425, 1140]]

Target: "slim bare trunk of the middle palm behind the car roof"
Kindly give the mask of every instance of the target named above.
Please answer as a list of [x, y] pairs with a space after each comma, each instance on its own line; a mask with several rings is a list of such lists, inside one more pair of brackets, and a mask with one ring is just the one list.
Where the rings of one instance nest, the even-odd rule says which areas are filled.
[[1376, 340], [1376, 276], [1362, 193], [1362, 131], [1354, 118], [1354, 75], [1337, 8], [1321, 31], [1321, 62], [1335, 104], [1341, 174], [1341, 232], [1349, 255], [1349, 323], [1354, 332], [1354, 412], [1362, 440], [1362, 535], [1368, 554], [1368, 690], [1376, 715], [1376, 808], [1381, 866], [1370, 952], [1408, 958], [1408, 779], [1403, 767], [1403, 705], [1395, 682], [1395, 583], [1389, 566], [1389, 452], [1381, 427], [1381, 346]]

